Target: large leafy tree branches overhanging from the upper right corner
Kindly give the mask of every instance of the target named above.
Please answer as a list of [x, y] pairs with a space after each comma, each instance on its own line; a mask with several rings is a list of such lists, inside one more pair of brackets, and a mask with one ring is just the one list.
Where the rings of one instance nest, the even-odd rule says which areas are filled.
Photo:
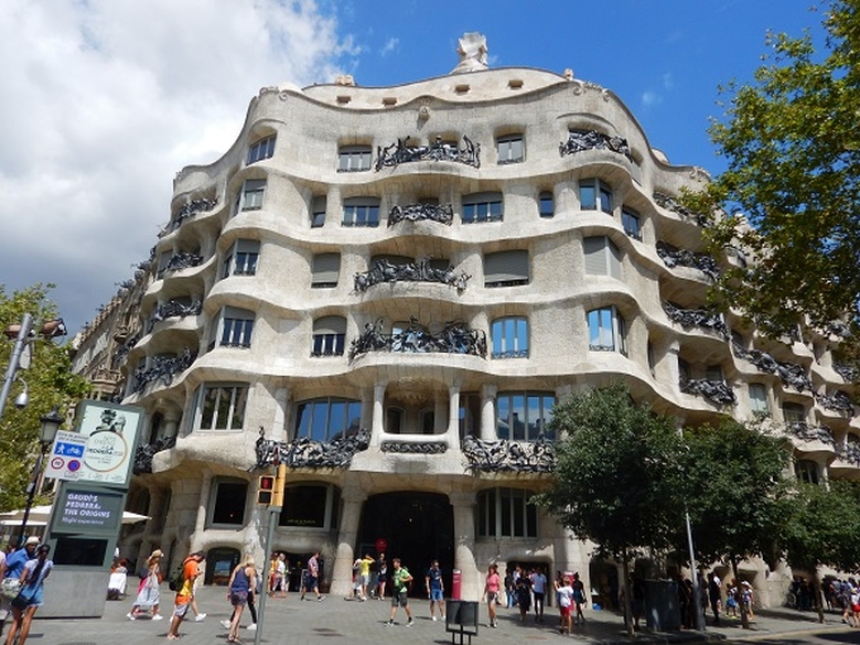
[[803, 316], [832, 329], [848, 312], [860, 336], [859, 8], [830, 2], [820, 54], [808, 34], [767, 34], [754, 82], [721, 88], [731, 98], [710, 135], [728, 170], [687, 196], [701, 213], [742, 213], [717, 218], [709, 237], [716, 249], [740, 243], [754, 261], [728, 268], [713, 295], [772, 335]]

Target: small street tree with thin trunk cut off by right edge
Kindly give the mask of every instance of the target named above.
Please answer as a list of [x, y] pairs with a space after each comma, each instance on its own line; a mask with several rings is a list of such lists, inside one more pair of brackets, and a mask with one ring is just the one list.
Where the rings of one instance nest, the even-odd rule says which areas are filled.
[[785, 552], [792, 569], [813, 574], [818, 621], [824, 623], [818, 568], [860, 569], [860, 485], [837, 480], [828, 486], [798, 482], [786, 525]]

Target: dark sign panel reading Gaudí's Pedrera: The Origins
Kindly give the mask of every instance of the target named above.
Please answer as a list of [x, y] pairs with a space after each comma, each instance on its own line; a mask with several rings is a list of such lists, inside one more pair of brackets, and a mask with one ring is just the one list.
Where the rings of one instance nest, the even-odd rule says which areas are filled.
[[115, 531], [122, 522], [123, 495], [66, 486], [54, 502], [53, 530], [76, 534]]

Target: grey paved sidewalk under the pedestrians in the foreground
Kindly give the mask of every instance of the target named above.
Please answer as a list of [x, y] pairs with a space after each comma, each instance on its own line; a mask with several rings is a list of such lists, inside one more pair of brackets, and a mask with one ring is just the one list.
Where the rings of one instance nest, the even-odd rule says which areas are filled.
[[[49, 581], [50, 583], [50, 581]], [[309, 596], [309, 599], [312, 596]], [[129, 621], [126, 614], [131, 609], [133, 594], [121, 601], [107, 601], [101, 619], [42, 619], [33, 622], [30, 631], [30, 645], [142, 645], [168, 643], [166, 634], [172, 614], [173, 593], [162, 585], [161, 599], [164, 620], [152, 621], [140, 617]], [[230, 615], [226, 589], [206, 587], [198, 590], [200, 610], [206, 619], [195, 622], [193, 614], [180, 627], [181, 643], [186, 645], [221, 645], [227, 643], [227, 631], [221, 621]], [[452, 634], [445, 632], [443, 621], [430, 620], [428, 601], [410, 599], [410, 609], [415, 617], [412, 627], [406, 626], [406, 614], [397, 610], [394, 626], [386, 626], [390, 611], [390, 600], [384, 602], [345, 601], [343, 598], [327, 596], [323, 602], [315, 599], [300, 602], [298, 593], [289, 593], [287, 599], [268, 598], [264, 623], [259, 626], [260, 642], [266, 644], [305, 645], [324, 643], [325, 645], [378, 645], [379, 642], [394, 642], [398, 645], [418, 645], [452, 643]], [[588, 643], [590, 645], [630, 645], [631, 643], [713, 643], [722, 641], [755, 642], [760, 644], [785, 643], [788, 638], [798, 638], [815, 633], [848, 632], [841, 623], [841, 614], [829, 613], [825, 623], [819, 624], [817, 614], [799, 613], [793, 610], [760, 610], [751, 630], [742, 630], [740, 621], [723, 620], [722, 625], [708, 625], [705, 633], [684, 631], [651, 634], [638, 632], [631, 639], [624, 632], [620, 614], [611, 611], [587, 611], [584, 625], [574, 627], [571, 636], [558, 632], [558, 610], [547, 608], [545, 622], [536, 623], [534, 614], [525, 623], [519, 622], [519, 611], [498, 608], [498, 627], [487, 626], [486, 605], [480, 605], [479, 634], [472, 637], [474, 645], [522, 645], [524, 639], [546, 641], [548, 645], [563, 643]], [[241, 642], [250, 645], [255, 632], [245, 628], [250, 623], [246, 609], [243, 615]], [[8, 630], [8, 624], [6, 626]], [[6, 630], [3, 631], [6, 636]], [[460, 637], [455, 638], [460, 645]], [[464, 644], [469, 643], [467, 636]]]

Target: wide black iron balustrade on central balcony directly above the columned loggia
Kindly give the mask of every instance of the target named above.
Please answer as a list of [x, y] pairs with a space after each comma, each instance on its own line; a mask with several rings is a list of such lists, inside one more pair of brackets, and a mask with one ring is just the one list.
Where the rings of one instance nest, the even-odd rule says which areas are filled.
[[463, 322], [449, 321], [438, 334], [431, 334], [412, 318], [409, 327], [393, 334], [383, 333], [383, 321], [367, 323], [364, 332], [353, 340], [350, 361], [367, 352], [402, 352], [410, 354], [471, 354], [486, 358], [486, 334]]

